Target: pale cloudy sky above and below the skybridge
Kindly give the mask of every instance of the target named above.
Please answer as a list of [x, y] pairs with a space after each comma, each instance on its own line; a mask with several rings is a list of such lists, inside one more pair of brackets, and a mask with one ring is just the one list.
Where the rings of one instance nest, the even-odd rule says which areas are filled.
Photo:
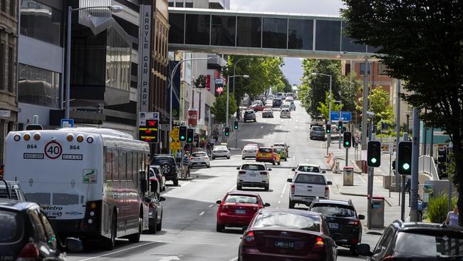
[[[230, 0], [231, 10], [339, 16], [341, 0]], [[303, 76], [301, 58], [284, 58], [282, 71], [291, 84], [300, 84]]]

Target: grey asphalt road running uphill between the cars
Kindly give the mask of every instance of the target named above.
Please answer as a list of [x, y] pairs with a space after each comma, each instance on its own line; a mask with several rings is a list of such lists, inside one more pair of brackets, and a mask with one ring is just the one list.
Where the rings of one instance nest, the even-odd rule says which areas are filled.
[[[288, 185], [286, 179], [290, 177], [291, 167], [298, 163], [316, 163], [328, 170], [323, 155], [323, 141], [310, 140], [308, 128], [310, 118], [296, 102], [297, 109], [292, 118], [279, 118], [279, 111], [275, 110], [275, 118], [261, 118], [257, 113], [256, 123], [241, 123], [239, 128], [238, 147], [246, 143], [271, 145], [285, 142], [290, 145], [287, 162], [272, 166], [270, 175], [270, 190], [259, 191], [264, 203], [270, 203], [269, 208], [288, 208]], [[234, 147], [235, 140], [229, 140]], [[180, 181], [179, 187], [169, 186], [163, 202], [164, 217], [162, 231], [156, 235], [142, 235], [137, 244], [129, 244], [127, 240], [118, 240], [115, 250], [102, 251], [98, 248], [85, 250], [80, 253], [68, 253], [69, 260], [224, 260], [237, 259], [241, 230], [227, 229], [216, 232], [217, 200], [225, 193], [236, 188], [236, 167], [241, 165], [239, 151], [233, 151], [231, 159], [212, 160], [212, 168], [195, 169], [192, 180]], [[328, 171], [328, 180], [333, 184], [341, 182], [340, 175]], [[168, 184], [171, 184], [170, 182]], [[331, 188], [332, 199], [352, 199], [354, 205], [365, 205], [365, 198], [355, 198], [340, 195]], [[296, 205], [297, 207], [297, 205]], [[366, 213], [363, 213], [366, 215]], [[378, 235], [363, 235], [363, 242], [374, 247]], [[338, 260], [364, 260], [363, 257], [353, 257], [343, 247], [339, 247]]]

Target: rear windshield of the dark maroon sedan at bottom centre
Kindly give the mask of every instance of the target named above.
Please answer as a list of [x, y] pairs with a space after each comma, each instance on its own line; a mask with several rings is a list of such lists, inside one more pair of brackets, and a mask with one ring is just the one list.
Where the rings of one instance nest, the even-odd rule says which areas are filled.
[[255, 228], [282, 227], [296, 230], [320, 232], [320, 219], [309, 215], [294, 213], [259, 213], [254, 221]]

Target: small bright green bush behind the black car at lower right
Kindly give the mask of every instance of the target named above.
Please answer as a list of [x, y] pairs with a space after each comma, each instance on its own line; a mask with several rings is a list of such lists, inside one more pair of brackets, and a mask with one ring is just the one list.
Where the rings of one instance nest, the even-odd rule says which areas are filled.
[[[452, 198], [452, 206], [457, 205], [457, 197]], [[447, 193], [439, 193], [434, 197], [430, 197], [430, 202], [427, 203], [425, 217], [430, 222], [443, 223], [447, 218], [447, 208], [449, 206], [449, 195]]]

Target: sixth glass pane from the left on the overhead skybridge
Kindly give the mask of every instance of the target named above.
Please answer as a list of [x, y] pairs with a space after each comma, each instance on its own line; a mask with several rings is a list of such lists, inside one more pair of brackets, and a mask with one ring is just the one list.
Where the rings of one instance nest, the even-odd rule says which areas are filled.
[[312, 50], [313, 20], [289, 19], [288, 49]]

